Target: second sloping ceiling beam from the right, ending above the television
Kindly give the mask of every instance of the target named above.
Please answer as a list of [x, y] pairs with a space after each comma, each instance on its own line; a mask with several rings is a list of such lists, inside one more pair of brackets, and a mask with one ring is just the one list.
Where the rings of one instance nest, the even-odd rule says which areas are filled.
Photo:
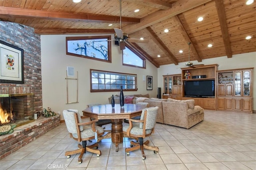
[[196, 60], [198, 62], [202, 62], [201, 57], [199, 56], [195, 46], [193, 45], [193, 42], [191, 41], [190, 37], [188, 36], [188, 33], [184, 27], [184, 25], [182, 24], [182, 22], [180, 21], [180, 18], [178, 16], [173, 16], [172, 20], [174, 21], [174, 24], [178, 27], [178, 30], [180, 30], [180, 33], [182, 34], [182, 36], [185, 38], [186, 42], [190, 42], [190, 48], [192, 53], [194, 54], [194, 56], [196, 57]]

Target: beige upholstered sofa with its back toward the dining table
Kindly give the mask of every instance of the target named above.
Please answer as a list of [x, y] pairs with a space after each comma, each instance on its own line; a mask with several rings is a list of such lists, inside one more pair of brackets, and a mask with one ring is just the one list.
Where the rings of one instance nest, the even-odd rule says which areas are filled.
[[[143, 98], [134, 98], [133, 103], [142, 102], [142, 100]], [[195, 101], [193, 99], [144, 98], [143, 102], [148, 103], [149, 107], [159, 107], [156, 118], [156, 122], [158, 123], [189, 129], [204, 120], [204, 109], [200, 106], [194, 106]]]

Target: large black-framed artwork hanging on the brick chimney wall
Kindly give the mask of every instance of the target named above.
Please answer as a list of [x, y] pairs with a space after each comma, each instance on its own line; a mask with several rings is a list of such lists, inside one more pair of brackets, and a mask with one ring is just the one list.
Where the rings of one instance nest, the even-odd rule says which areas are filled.
[[0, 82], [24, 84], [23, 49], [1, 40]]

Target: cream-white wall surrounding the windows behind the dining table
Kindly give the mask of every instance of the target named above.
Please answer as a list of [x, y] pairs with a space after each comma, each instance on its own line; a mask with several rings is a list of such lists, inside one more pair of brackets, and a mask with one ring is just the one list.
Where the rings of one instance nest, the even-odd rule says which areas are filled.
[[[51, 107], [52, 111], [60, 111], [60, 113], [64, 109], [78, 109], [82, 114], [82, 110], [86, 108], [87, 104], [108, 104], [108, 98], [112, 94], [120, 94], [120, 92], [91, 93], [90, 68], [137, 74], [138, 91], [124, 92], [124, 95], [150, 94], [150, 97], [156, 97], [157, 68], [149, 61], [146, 61], [146, 69], [123, 66], [122, 52], [119, 46], [114, 45], [114, 42], [112, 42], [112, 63], [66, 55], [66, 37], [72, 36], [91, 35], [41, 35], [43, 108]], [[75, 72], [78, 71], [78, 103], [74, 104], [66, 104], [67, 66], [74, 67]], [[153, 90], [146, 90], [146, 81], [142, 81], [143, 75], [153, 76]]]

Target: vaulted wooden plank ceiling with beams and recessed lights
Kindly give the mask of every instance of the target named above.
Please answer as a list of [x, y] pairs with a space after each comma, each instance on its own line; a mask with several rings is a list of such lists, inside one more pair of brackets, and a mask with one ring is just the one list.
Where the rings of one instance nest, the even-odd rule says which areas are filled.
[[[190, 61], [200, 64], [203, 59], [230, 58], [256, 51], [256, 2], [245, 3], [246, 0], [122, 0], [122, 31], [129, 38], [149, 40], [130, 45], [156, 67], [188, 62], [188, 42]], [[134, 12], [136, 9], [140, 11]], [[197, 21], [198, 17], [204, 20]], [[120, 1], [0, 0], [0, 19], [33, 27], [40, 35], [114, 34], [114, 28], [120, 28]], [[113, 25], [108, 26], [110, 23]], [[248, 35], [252, 37], [249, 40], [245, 39]]]

